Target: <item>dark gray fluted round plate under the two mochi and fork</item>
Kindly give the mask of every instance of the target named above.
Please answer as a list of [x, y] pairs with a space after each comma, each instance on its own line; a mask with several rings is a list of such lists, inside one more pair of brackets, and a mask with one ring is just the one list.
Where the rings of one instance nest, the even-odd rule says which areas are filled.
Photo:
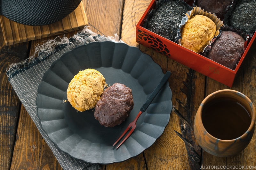
[[[118, 82], [132, 89], [134, 107], [120, 125], [106, 128], [95, 120], [93, 109], [78, 112], [65, 102], [69, 82], [87, 68], [100, 71], [108, 85]], [[154, 144], [169, 122], [172, 92], [167, 82], [132, 135], [117, 150], [112, 146], [163, 76], [161, 67], [138, 48], [112, 41], [81, 45], [63, 54], [44, 74], [36, 100], [38, 117], [52, 142], [72, 157], [88, 163], [122, 162]]]

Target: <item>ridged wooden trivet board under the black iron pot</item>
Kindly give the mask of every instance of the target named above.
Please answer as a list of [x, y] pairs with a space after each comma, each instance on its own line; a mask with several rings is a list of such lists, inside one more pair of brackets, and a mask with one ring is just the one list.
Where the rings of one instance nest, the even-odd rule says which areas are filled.
[[5, 45], [81, 30], [88, 25], [83, 2], [67, 17], [45, 26], [26, 26], [0, 16]]

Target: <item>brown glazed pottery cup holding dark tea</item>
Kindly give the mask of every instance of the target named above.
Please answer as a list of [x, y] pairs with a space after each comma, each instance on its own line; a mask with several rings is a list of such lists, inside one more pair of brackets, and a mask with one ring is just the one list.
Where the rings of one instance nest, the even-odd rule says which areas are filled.
[[[236, 117], [234, 114], [239, 116], [242, 114], [242, 111], [237, 109], [234, 103], [230, 106], [235, 109], [232, 107], [228, 108], [228, 105], [222, 104], [226, 100], [239, 103], [237, 104], [239, 107], [241, 106], [241, 108], [246, 109], [248, 112], [246, 112], [246, 116], [248, 116], [247, 122], [243, 122], [244, 117], [246, 117], [245, 115], [239, 117], [237, 119], [238, 122], [233, 122], [233, 118]], [[231, 115], [227, 115], [228, 119], [226, 117], [226, 120], [223, 121], [229, 110], [233, 110], [234, 113], [229, 113]], [[208, 113], [212, 113], [212, 115], [210, 116]], [[241, 122], [243, 123], [240, 124]], [[232, 125], [232, 123], [235, 124]], [[239, 130], [244, 129], [240, 134], [236, 134], [238, 135], [236, 137], [229, 136], [237, 132], [236, 128], [239, 128]], [[198, 108], [194, 121], [196, 141], [206, 152], [218, 157], [229, 157], [243, 151], [250, 143], [254, 129], [254, 105], [248, 97], [235, 90], [219, 90], [208, 95]], [[227, 131], [228, 133], [223, 136], [223, 131]]]

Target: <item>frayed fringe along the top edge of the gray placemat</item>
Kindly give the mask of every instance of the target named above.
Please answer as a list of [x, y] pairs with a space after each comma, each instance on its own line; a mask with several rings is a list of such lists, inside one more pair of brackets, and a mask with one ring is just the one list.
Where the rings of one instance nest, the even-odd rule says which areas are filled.
[[[19, 62], [19, 63], [13, 63], [9, 66], [9, 68], [6, 69], [6, 74], [8, 76], [8, 80], [10, 81], [11, 78], [16, 76], [17, 74], [26, 71], [36, 64], [44, 61], [52, 54], [60, 51], [63, 48], [68, 48], [68, 50], [72, 50], [73, 48], [84, 45], [85, 44], [85, 37], [88, 37], [92, 41], [95, 41], [94, 38], [105, 38], [109, 39], [109, 41], [114, 42], [123, 42], [119, 40], [119, 36], [115, 34], [115, 37], [105, 37], [100, 34], [96, 34], [92, 32], [88, 26], [85, 26], [84, 29], [78, 33], [76, 33], [74, 36], [67, 38], [67, 37], [57, 37], [54, 40], [46, 41], [43, 44], [37, 44], [35, 47], [35, 53], [34, 55], [30, 56], [25, 61]], [[36, 57], [38, 56], [38, 57]]]

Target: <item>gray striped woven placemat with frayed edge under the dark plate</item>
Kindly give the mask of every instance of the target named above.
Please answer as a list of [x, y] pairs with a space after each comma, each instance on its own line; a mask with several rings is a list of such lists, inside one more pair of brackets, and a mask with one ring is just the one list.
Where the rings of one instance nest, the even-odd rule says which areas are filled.
[[7, 76], [13, 89], [64, 170], [96, 170], [100, 169], [101, 166], [72, 158], [67, 153], [60, 151], [47, 137], [37, 116], [36, 97], [38, 86], [51, 64], [65, 52], [90, 42], [117, 41], [116, 39], [118, 40], [118, 37], [107, 38], [97, 35], [85, 27], [81, 32], [69, 39], [64, 37], [60, 41], [50, 40], [43, 45], [37, 46], [36, 54], [38, 53], [38, 57], [36, 59], [34, 59], [34, 56], [31, 56], [24, 62], [10, 65], [10, 68], [7, 70]]

